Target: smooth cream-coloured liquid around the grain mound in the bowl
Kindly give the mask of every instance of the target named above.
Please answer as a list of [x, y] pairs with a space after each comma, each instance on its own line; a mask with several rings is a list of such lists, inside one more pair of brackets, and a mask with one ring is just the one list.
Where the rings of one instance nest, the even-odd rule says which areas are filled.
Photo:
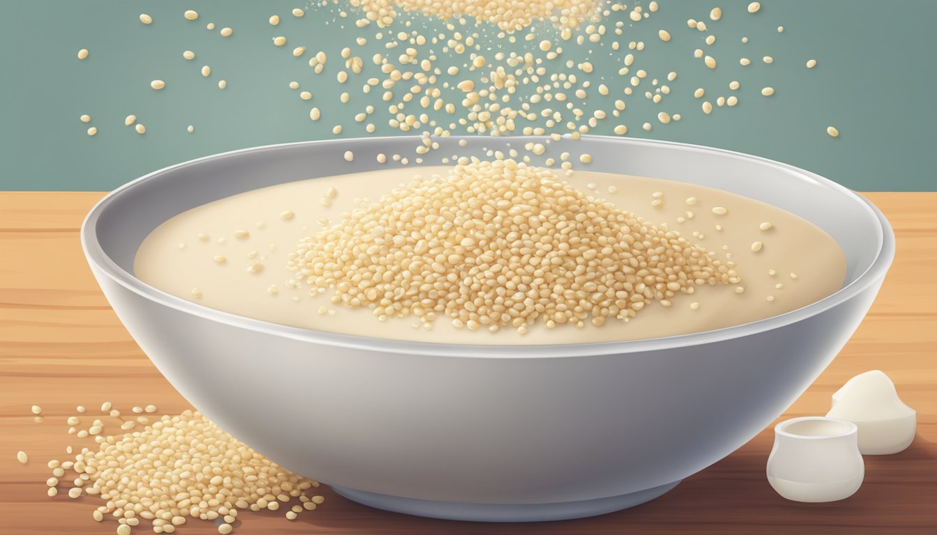
[[432, 330], [413, 318], [381, 321], [367, 308], [332, 304], [331, 291], [310, 296], [309, 287], [295, 284], [297, 275], [287, 268], [287, 255], [302, 238], [340, 223], [342, 214], [379, 201], [414, 175], [445, 176], [449, 169], [322, 177], [209, 202], [153, 230], [137, 251], [134, 272], [156, 289], [200, 305], [295, 327], [423, 342], [534, 345], [653, 338], [763, 320], [830, 295], [845, 277], [839, 245], [781, 208], [704, 186], [575, 171], [563, 179], [570, 186], [649, 223], [665, 223], [705, 247], [712, 258], [735, 262], [741, 282], [698, 286], [692, 294], [677, 294], [672, 306], [652, 303], [628, 321], [552, 329], [537, 322], [527, 334], [511, 328], [469, 331], [454, 327], [442, 315]]

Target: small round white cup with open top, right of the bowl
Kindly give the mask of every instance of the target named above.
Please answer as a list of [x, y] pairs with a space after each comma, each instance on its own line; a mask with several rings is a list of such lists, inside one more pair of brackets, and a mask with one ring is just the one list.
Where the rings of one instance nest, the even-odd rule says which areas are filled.
[[811, 502], [849, 498], [865, 472], [852, 422], [805, 416], [775, 425], [767, 481], [782, 497]]

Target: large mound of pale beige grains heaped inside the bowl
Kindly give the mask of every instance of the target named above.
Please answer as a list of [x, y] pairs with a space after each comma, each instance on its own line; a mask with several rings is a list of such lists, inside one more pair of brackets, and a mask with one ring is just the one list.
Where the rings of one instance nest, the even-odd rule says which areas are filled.
[[443, 315], [521, 334], [536, 321], [627, 321], [697, 285], [739, 281], [677, 231], [513, 159], [462, 158], [448, 176], [417, 176], [305, 237], [288, 266], [310, 294], [334, 290], [333, 303], [379, 320]]

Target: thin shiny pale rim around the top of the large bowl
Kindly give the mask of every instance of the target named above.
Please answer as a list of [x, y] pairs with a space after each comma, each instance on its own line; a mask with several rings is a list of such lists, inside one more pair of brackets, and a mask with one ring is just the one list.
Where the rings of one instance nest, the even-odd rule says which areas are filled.
[[[381, 139], [400, 141], [401, 139], [417, 140], [412, 136], [391, 136], [384, 138], [346, 138], [342, 140], [318, 140], [318, 141], [292, 141], [287, 143], [275, 143], [271, 145], [260, 145], [244, 149], [232, 150], [224, 153], [218, 153], [210, 156], [187, 160], [178, 164], [171, 165], [156, 171], [142, 175], [141, 177], [127, 182], [123, 186], [118, 186], [110, 193], [105, 195], [88, 212], [82, 221], [80, 232], [82, 249], [89, 265], [97, 270], [98, 274], [106, 275], [116, 284], [123, 286], [126, 290], [155, 302], [158, 305], [168, 306], [178, 311], [196, 316], [203, 320], [212, 320], [219, 323], [229, 324], [233, 327], [246, 329], [249, 331], [260, 332], [263, 334], [272, 334], [290, 338], [298, 341], [305, 341], [317, 344], [342, 347], [346, 349], [358, 349], [368, 351], [379, 351], [384, 353], [400, 353], [409, 355], [430, 355], [439, 357], [468, 357], [468, 358], [557, 358], [557, 357], [585, 357], [608, 354], [624, 354], [646, 352], [661, 349], [677, 349], [703, 344], [722, 342], [734, 338], [741, 338], [752, 334], [758, 334], [773, 329], [781, 328], [786, 325], [796, 323], [801, 320], [807, 320], [812, 316], [825, 312], [830, 308], [841, 305], [849, 301], [864, 290], [879, 283], [885, 277], [885, 273], [894, 258], [895, 236], [885, 215], [869, 200], [858, 195], [853, 190], [841, 186], [825, 177], [805, 171], [795, 166], [784, 164], [761, 156], [752, 156], [736, 151], [730, 151], [715, 147], [706, 147], [692, 143], [682, 143], [677, 141], [658, 141], [632, 138], [617, 138], [612, 136], [583, 136], [587, 141], [612, 141], [623, 142], [635, 146], [663, 146], [672, 147], [677, 150], [690, 152], [704, 152], [727, 157], [746, 159], [767, 167], [780, 168], [796, 175], [802, 179], [809, 179], [811, 182], [818, 183], [827, 188], [833, 189], [853, 201], [863, 204], [870, 212], [870, 215], [877, 218], [880, 230], [882, 232], [881, 241], [878, 244], [874, 260], [870, 266], [861, 274], [855, 277], [855, 280], [840, 288], [823, 299], [815, 301], [810, 305], [805, 305], [795, 310], [791, 310], [777, 316], [771, 316], [763, 320], [750, 321], [739, 325], [732, 325], [720, 329], [701, 331], [689, 334], [676, 334], [670, 336], [661, 336], [655, 338], [641, 338], [635, 340], [620, 340], [613, 342], [584, 342], [573, 344], [551, 344], [551, 345], [483, 345], [483, 344], [447, 344], [440, 342], [418, 342], [408, 340], [394, 340], [390, 338], [379, 338], [372, 336], [362, 336], [357, 334], [338, 334], [327, 331], [317, 331], [302, 327], [293, 327], [280, 323], [274, 323], [265, 320], [256, 320], [246, 316], [240, 316], [217, 310], [205, 305], [186, 301], [176, 297], [163, 290], [158, 290], [150, 286], [132, 273], [127, 272], [114, 262], [111, 257], [104, 252], [103, 247], [97, 240], [97, 219], [108, 208], [110, 204], [117, 201], [127, 194], [130, 190], [140, 185], [141, 182], [150, 180], [161, 174], [176, 171], [181, 168], [197, 165], [202, 162], [220, 159], [227, 156], [245, 155], [253, 152], [274, 150], [279, 148], [298, 146], [298, 145], [320, 145], [335, 143], [357, 143], [357, 142], [375, 142]], [[460, 139], [477, 140], [477, 136], [452, 136], [450, 141]], [[511, 141], [543, 141], [548, 139], [545, 136], [517, 136], [512, 137]], [[420, 166], [410, 166], [417, 168]], [[96, 274], [97, 275], [97, 274]]]

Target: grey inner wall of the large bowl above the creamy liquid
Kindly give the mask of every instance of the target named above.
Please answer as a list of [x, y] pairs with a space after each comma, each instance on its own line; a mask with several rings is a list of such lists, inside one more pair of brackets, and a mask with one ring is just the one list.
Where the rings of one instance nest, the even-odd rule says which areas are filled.
[[[459, 146], [460, 140], [465, 140], [466, 146]], [[443, 138], [439, 139], [439, 151], [425, 156], [424, 165], [439, 165], [442, 157], [454, 154], [484, 157], [488, 150], [520, 148], [528, 141], [543, 138]], [[134, 256], [142, 240], [173, 215], [260, 187], [402, 167], [394, 161], [379, 164], [375, 156], [384, 153], [413, 157], [418, 143], [412, 137], [307, 141], [206, 156], [155, 171], [118, 188], [92, 211], [82, 232], [86, 242], [99, 246], [117, 270], [132, 277]], [[590, 171], [715, 187], [799, 215], [825, 230], [842, 248], [846, 259], [844, 287], [869, 270], [883, 250], [887, 223], [867, 201], [831, 181], [785, 164], [666, 141], [587, 136], [579, 141], [555, 141], [548, 147], [543, 158], [566, 151], [577, 161], [579, 154], [589, 153]], [[346, 150], [354, 151], [353, 164], [345, 161]], [[392, 186], [389, 184], [388, 189]]]

